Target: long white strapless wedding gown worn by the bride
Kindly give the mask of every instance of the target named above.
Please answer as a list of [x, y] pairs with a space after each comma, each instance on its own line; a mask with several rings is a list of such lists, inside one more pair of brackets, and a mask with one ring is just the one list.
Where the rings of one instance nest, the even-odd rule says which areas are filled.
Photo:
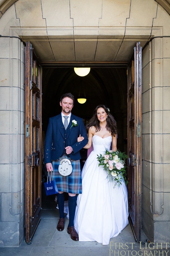
[[79, 241], [97, 241], [108, 245], [128, 224], [127, 188], [114, 187], [107, 172], [100, 166], [97, 155], [110, 149], [112, 136], [92, 138], [94, 150], [82, 170], [82, 194], [78, 195], [74, 226]]

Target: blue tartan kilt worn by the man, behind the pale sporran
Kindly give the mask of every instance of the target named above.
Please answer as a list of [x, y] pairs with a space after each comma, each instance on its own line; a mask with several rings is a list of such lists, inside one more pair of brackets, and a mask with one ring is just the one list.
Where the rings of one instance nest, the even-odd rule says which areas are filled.
[[[63, 176], [58, 171], [58, 166], [62, 159], [69, 159], [72, 165], [72, 173], [68, 176]], [[71, 194], [82, 194], [82, 176], [80, 160], [73, 160], [70, 157], [63, 155], [57, 160], [52, 161], [53, 178], [56, 181], [58, 191], [63, 191]]]

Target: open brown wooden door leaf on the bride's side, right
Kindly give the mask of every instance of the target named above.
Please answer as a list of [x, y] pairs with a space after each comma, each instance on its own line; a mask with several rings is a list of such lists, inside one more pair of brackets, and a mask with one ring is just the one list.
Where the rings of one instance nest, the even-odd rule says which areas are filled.
[[141, 57], [142, 48], [137, 43], [128, 66], [129, 220], [137, 242], [141, 236]]

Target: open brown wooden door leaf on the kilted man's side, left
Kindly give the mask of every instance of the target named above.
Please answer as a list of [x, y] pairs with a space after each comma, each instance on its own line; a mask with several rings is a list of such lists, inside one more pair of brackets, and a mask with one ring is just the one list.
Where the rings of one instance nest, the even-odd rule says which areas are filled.
[[25, 48], [25, 228], [26, 243], [40, 222], [41, 210], [41, 65]]

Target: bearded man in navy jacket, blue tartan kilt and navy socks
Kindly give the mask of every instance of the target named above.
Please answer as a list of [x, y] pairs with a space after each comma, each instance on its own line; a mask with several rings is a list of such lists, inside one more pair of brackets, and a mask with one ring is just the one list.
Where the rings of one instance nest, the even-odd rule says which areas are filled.
[[[45, 159], [47, 171], [54, 171], [59, 193], [57, 194], [60, 219], [57, 224], [57, 230], [64, 230], [64, 193], [68, 192], [69, 224], [67, 233], [71, 239], [77, 241], [79, 236], [74, 228], [74, 215], [76, 209], [77, 195], [82, 193], [82, 178], [80, 168], [80, 152], [88, 142], [86, 128], [83, 119], [71, 113], [74, 106], [74, 96], [71, 93], [65, 93], [60, 100], [62, 113], [49, 119], [49, 125], [45, 136]], [[79, 135], [84, 140], [77, 142]], [[69, 159], [72, 165], [72, 173], [68, 176], [62, 176], [58, 171], [58, 166], [62, 159]]]

